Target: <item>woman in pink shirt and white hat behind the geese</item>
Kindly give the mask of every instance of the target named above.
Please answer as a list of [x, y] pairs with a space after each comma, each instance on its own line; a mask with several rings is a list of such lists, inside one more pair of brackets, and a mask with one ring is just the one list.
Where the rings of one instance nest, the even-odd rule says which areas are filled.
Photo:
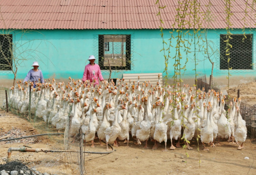
[[95, 57], [91, 55], [89, 56], [88, 60], [90, 61], [90, 63], [87, 64], [86, 68], [84, 69], [82, 82], [86, 80], [90, 80], [90, 82], [93, 82], [93, 80], [95, 80], [95, 83], [94, 83], [95, 85], [95, 84], [99, 84], [99, 80], [100, 80], [103, 83], [104, 79], [101, 75], [99, 65], [94, 63]]

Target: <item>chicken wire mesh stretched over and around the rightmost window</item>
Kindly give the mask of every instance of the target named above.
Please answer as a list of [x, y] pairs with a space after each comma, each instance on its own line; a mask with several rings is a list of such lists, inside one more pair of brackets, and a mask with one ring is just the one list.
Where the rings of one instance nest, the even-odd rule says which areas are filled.
[[[249, 73], [255, 72], [253, 64], [253, 34], [250, 29], [245, 29], [245, 33], [234, 32], [229, 38], [229, 43], [232, 48], [229, 50], [229, 73]], [[227, 35], [222, 31], [217, 31], [216, 34], [219, 36], [220, 42], [216, 42], [215, 48], [220, 48], [216, 52], [215, 70], [216, 73], [227, 73], [228, 71], [228, 55], [226, 55], [226, 43]], [[218, 49], [216, 49], [218, 50]]]

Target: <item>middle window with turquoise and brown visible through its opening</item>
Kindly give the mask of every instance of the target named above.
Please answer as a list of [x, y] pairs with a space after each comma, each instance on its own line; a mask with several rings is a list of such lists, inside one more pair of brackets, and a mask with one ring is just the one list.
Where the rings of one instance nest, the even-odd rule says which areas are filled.
[[131, 35], [99, 35], [101, 70], [131, 70]]

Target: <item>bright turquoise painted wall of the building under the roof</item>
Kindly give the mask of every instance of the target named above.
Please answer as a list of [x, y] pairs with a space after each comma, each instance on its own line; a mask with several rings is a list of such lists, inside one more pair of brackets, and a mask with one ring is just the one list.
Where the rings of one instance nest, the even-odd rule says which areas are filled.
[[[169, 43], [171, 30], [164, 30], [164, 40]], [[199, 35], [202, 31], [199, 31]], [[123, 73], [159, 73], [163, 72], [165, 68], [162, 38], [160, 30], [37, 30], [22, 34], [20, 31], [14, 31], [13, 42], [16, 46], [16, 57], [22, 55], [27, 58], [20, 63], [17, 72], [17, 79], [24, 79], [30, 69], [34, 60], [39, 62], [39, 69], [42, 70], [45, 78], [68, 78], [71, 76], [74, 79], [81, 79], [83, 70], [89, 55], [98, 56], [98, 35], [99, 34], [131, 34], [132, 43], [132, 70], [114, 72], [112, 78], [122, 78]], [[191, 33], [191, 31], [190, 31]], [[233, 30], [233, 34], [242, 34], [242, 30]], [[255, 31], [247, 30], [246, 33], [253, 33]], [[220, 34], [226, 34], [226, 30], [209, 30], [207, 33], [208, 42], [211, 47], [216, 49], [216, 53], [212, 55], [215, 62], [214, 76], [226, 76], [227, 71], [219, 70], [219, 42]], [[174, 32], [174, 39], [172, 45], [176, 46], [177, 33]], [[191, 36], [186, 34], [186, 38]], [[255, 35], [253, 35], [255, 36]], [[204, 33], [202, 39], [197, 39], [196, 49], [199, 45], [205, 45]], [[253, 38], [254, 40], [254, 38]], [[194, 41], [192, 41], [193, 43]], [[165, 46], [167, 48], [167, 46]], [[182, 51], [182, 66], [188, 58], [185, 73], [195, 73], [194, 62], [194, 44], [190, 46], [190, 54], [186, 56]], [[24, 52], [25, 51], [25, 52]], [[168, 73], [173, 74], [173, 64], [176, 49], [170, 49], [170, 58], [168, 64]], [[166, 54], [168, 52], [166, 51]], [[196, 52], [197, 58], [197, 73], [205, 73], [210, 75], [211, 64], [205, 59], [202, 52]], [[97, 62], [98, 60], [96, 60]], [[237, 71], [231, 70], [231, 74], [250, 76], [254, 70]], [[102, 71], [104, 78], [109, 77], [108, 71]], [[13, 79], [13, 74], [10, 71], [0, 71], [1, 79]]]

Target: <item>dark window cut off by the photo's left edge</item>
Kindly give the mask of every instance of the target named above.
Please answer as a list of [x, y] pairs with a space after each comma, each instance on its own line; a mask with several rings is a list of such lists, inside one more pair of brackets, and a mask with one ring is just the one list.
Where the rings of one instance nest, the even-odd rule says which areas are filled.
[[12, 34], [0, 34], [0, 71], [12, 70]]

